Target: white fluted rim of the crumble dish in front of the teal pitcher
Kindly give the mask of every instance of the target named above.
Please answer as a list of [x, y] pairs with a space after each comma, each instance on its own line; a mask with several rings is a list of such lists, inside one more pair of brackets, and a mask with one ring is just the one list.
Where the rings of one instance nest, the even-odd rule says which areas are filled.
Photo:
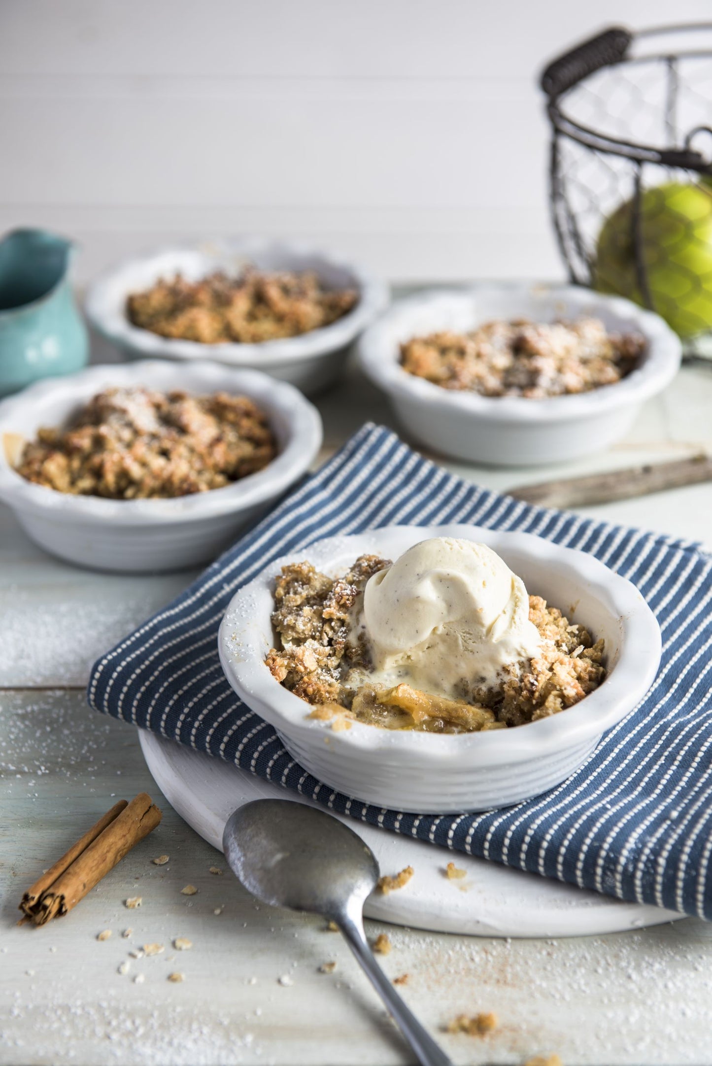
[[[191, 386], [198, 375], [205, 386]], [[184, 382], [181, 378], [185, 378]], [[150, 388], [184, 388], [187, 391], [220, 391], [229, 388], [244, 393], [263, 409], [279, 413], [287, 420], [289, 439], [272, 463], [257, 473], [206, 492], [168, 500], [107, 500], [94, 496], [70, 496], [26, 481], [11, 466], [2, 436], [6, 422], [25, 407], [42, 403], [52, 393], [76, 386], [77, 403], [99, 388], [116, 385], [147, 385]], [[18, 419], [19, 420], [19, 419]], [[317, 408], [287, 382], [275, 381], [259, 370], [227, 367], [207, 359], [176, 365], [161, 359], [140, 359], [127, 364], [101, 364], [77, 374], [46, 378], [0, 402], [0, 498], [17, 510], [32, 510], [66, 516], [94, 524], [150, 526], [212, 518], [259, 505], [274, 499], [303, 474], [317, 456], [322, 442], [322, 422]]]

